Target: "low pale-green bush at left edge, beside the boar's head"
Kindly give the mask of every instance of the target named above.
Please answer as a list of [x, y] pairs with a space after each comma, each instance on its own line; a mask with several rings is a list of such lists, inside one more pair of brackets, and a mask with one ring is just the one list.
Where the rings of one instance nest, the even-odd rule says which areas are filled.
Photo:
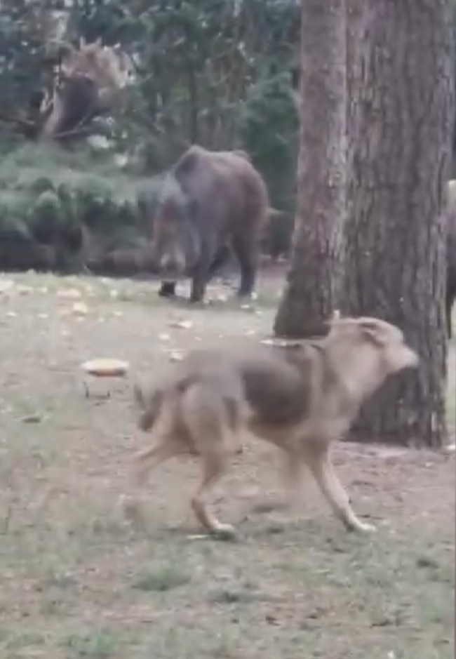
[[[141, 184], [147, 208], [138, 205]], [[112, 159], [43, 145], [14, 149], [0, 165], [0, 268], [100, 267], [114, 249], [146, 244], [156, 191], [156, 180], [131, 178]]]

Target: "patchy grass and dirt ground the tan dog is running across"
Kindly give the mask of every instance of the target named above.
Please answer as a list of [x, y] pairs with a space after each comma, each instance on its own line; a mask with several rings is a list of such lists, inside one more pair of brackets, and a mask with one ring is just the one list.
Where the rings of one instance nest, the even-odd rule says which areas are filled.
[[344, 531], [313, 483], [295, 510], [253, 513], [281, 491], [260, 442], [215, 492], [236, 542], [199, 536], [192, 462], [152, 474], [145, 527], [122, 517], [128, 460], [147, 437], [130, 378], [89, 383], [86, 398], [80, 364], [117, 357], [156, 375], [172, 351], [269, 333], [279, 290], [263, 277], [254, 307], [189, 309], [156, 289], [0, 280], [0, 658], [454, 657], [454, 455], [337, 446], [356, 511], [377, 524], [369, 537]]

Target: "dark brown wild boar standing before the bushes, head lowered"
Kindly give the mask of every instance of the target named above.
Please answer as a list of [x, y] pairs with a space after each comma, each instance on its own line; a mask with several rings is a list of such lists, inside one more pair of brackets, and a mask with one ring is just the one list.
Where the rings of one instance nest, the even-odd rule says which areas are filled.
[[268, 204], [245, 152], [190, 147], [168, 173], [154, 218], [159, 294], [175, 295], [176, 281], [190, 277], [191, 300], [203, 300], [232, 249], [241, 267], [239, 295], [250, 295]]

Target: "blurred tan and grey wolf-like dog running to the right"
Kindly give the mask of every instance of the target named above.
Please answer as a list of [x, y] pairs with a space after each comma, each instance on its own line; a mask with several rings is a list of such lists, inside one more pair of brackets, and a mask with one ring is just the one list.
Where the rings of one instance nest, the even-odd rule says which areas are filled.
[[363, 401], [389, 375], [417, 363], [401, 330], [375, 318], [333, 319], [325, 338], [288, 347], [192, 352], [150, 394], [135, 388], [138, 425], [152, 430], [152, 447], [135, 459], [136, 482], [160, 462], [196, 455], [202, 475], [194, 513], [209, 531], [232, 532], [208, 512], [203, 495], [253, 433], [283, 451], [290, 493], [307, 465], [345, 526], [368, 531], [337, 479], [330, 443], [349, 430]]

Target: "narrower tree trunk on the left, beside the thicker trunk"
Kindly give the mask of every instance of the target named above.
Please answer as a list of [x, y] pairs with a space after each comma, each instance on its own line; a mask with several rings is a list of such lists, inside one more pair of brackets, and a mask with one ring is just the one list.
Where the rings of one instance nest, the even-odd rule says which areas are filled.
[[339, 303], [345, 215], [345, 2], [305, 0], [301, 11], [297, 218], [274, 331], [326, 333]]

